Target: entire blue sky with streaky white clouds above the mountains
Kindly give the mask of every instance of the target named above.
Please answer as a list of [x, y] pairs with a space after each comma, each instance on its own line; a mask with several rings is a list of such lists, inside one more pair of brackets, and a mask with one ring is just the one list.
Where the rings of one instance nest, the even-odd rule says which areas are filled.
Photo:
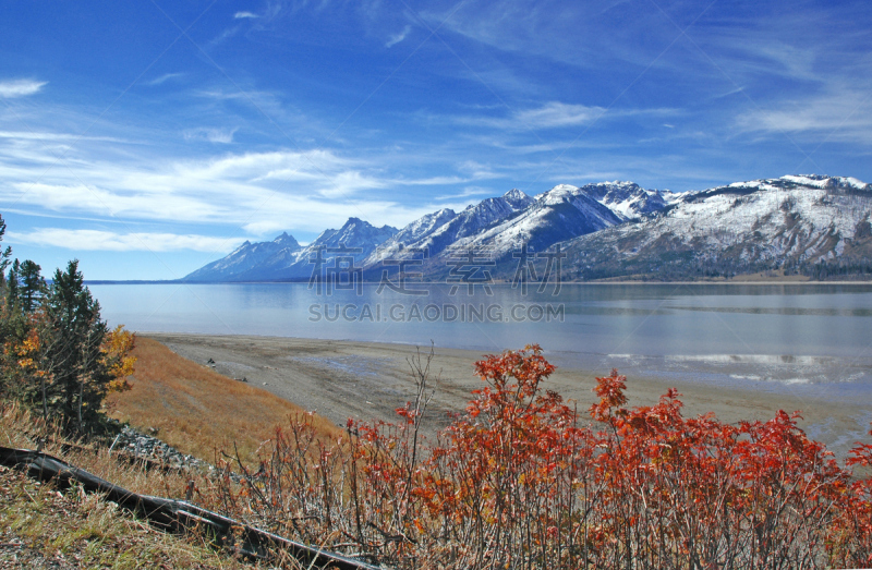
[[519, 187], [872, 182], [872, 4], [7, 2], [5, 243], [173, 279]]

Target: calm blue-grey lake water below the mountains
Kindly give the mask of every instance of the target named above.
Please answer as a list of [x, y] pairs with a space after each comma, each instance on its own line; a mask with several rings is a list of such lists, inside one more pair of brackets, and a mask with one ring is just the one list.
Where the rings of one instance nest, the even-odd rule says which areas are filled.
[[[422, 286], [417, 286], [419, 288]], [[870, 284], [376, 286], [90, 284], [110, 325], [402, 342], [499, 352], [536, 342], [558, 365], [686, 381], [872, 397]], [[872, 402], [870, 402], [872, 403]]]

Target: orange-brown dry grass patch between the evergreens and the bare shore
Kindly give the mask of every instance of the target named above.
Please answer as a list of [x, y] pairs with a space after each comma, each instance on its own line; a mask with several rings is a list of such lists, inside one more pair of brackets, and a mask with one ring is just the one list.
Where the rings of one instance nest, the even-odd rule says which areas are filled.
[[[164, 344], [137, 338], [132, 390], [107, 399], [110, 415], [133, 427], [159, 429], [158, 436], [184, 453], [214, 461], [216, 450], [250, 459], [288, 425], [290, 415], [304, 410], [266, 390], [222, 376], [209, 367], [179, 356]], [[342, 430], [314, 416], [323, 436]]]

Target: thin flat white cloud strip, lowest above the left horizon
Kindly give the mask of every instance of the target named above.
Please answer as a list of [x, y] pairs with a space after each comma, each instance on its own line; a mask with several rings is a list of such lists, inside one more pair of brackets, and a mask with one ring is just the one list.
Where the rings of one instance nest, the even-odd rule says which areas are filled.
[[170, 252], [192, 250], [213, 253], [227, 248], [235, 239], [210, 235], [177, 233], [114, 233], [101, 230], [68, 230], [62, 228], [38, 228], [20, 233], [9, 232], [11, 243], [25, 245], [63, 247], [76, 251], [104, 252]]

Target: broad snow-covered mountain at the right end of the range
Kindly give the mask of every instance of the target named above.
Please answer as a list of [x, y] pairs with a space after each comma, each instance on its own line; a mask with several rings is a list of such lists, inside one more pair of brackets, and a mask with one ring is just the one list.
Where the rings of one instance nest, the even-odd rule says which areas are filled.
[[737, 182], [679, 196], [639, 223], [565, 243], [568, 278], [797, 271], [872, 257], [872, 185], [821, 175]]

